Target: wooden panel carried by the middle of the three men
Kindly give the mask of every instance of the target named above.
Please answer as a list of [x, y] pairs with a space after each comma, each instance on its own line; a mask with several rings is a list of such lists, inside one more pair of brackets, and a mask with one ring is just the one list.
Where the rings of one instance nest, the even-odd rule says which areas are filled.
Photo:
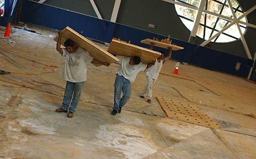
[[128, 57], [139, 56], [143, 63], [150, 63], [161, 55], [160, 52], [149, 50], [144, 47], [129, 44], [125, 41], [116, 39], [112, 39], [111, 44], [108, 47], [108, 52], [113, 55], [122, 55]]

